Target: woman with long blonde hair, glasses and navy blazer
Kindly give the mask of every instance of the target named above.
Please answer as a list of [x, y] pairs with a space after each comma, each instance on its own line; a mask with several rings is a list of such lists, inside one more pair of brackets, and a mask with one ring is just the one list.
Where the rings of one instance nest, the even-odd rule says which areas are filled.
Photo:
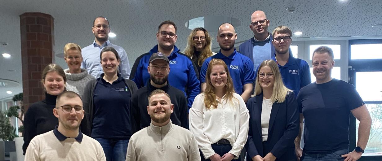
[[295, 94], [283, 84], [273, 60], [257, 70], [255, 92], [247, 102], [249, 133], [247, 161], [295, 161], [294, 140], [299, 130]]

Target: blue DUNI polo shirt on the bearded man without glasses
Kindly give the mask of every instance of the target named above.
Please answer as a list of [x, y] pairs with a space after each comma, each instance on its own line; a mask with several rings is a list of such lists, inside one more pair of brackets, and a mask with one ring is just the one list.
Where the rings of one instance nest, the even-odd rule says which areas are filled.
[[221, 59], [227, 64], [228, 70], [230, 71], [230, 76], [232, 77], [233, 85], [235, 87], [235, 92], [239, 95], [244, 92], [244, 84], [252, 83], [255, 80], [255, 71], [253, 67], [253, 62], [247, 56], [236, 52], [236, 49], [230, 56], [224, 56], [222, 52], [207, 58], [200, 71], [200, 82], [206, 82], [206, 72], [208, 64], [212, 59]]

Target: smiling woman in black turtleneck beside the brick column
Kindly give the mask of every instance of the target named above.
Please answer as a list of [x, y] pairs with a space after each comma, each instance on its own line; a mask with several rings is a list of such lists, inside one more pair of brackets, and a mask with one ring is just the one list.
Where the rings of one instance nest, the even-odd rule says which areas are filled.
[[56, 105], [57, 95], [65, 90], [65, 73], [59, 65], [49, 64], [42, 71], [41, 82], [45, 87], [45, 99], [32, 103], [24, 117], [24, 155], [33, 137], [53, 130], [58, 125], [58, 120], [52, 111]]

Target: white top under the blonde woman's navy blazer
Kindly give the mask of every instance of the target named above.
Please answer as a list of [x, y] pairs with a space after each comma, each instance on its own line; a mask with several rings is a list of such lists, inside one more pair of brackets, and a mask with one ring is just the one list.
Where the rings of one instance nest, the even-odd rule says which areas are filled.
[[263, 99], [261, 108], [261, 136], [263, 142], [268, 140], [269, 118], [272, 105], [273, 103], [270, 99]]

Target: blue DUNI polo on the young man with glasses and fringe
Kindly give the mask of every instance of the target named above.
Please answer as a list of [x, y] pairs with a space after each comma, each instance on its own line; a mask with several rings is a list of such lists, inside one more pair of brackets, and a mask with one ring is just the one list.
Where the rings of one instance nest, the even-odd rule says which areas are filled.
[[[275, 56], [276, 54], [272, 57], [272, 60], [277, 62]], [[312, 82], [308, 63], [305, 60], [293, 57], [290, 51], [288, 62], [284, 66], [278, 63], [277, 65], [285, 86], [293, 90], [296, 96], [302, 87]]]

